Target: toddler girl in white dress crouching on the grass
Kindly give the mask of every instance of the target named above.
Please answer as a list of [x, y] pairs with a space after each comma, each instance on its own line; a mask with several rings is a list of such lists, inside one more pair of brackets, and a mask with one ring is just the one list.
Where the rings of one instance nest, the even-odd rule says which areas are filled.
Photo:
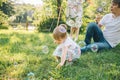
[[53, 55], [57, 60], [61, 59], [57, 68], [63, 66], [66, 60], [71, 62], [73, 59], [80, 57], [80, 47], [67, 35], [65, 24], [61, 24], [54, 29], [53, 38], [55, 43], [58, 44]]

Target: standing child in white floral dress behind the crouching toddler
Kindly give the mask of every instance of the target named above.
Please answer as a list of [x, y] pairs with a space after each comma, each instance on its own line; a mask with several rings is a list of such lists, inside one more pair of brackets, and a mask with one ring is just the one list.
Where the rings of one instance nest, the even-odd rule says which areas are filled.
[[70, 35], [76, 41], [82, 25], [82, 0], [67, 0], [66, 17], [66, 24], [71, 27]]

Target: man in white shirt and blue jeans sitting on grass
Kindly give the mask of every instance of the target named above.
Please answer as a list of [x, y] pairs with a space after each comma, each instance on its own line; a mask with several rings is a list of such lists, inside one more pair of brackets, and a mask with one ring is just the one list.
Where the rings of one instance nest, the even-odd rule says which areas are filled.
[[[91, 50], [92, 45], [96, 45], [99, 51], [111, 49], [120, 43], [120, 0], [112, 0], [110, 10], [111, 13], [103, 16], [98, 25], [88, 24], [85, 36], [86, 46], [81, 48], [82, 53]], [[103, 32], [100, 29], [102, 26], [105, 26]], [[92, 38], [94, 43], [91, 44]]]

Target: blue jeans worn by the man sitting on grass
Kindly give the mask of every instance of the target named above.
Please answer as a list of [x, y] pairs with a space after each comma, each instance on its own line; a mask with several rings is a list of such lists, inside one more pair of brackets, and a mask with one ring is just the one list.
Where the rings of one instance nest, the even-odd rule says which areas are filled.
[[[93, 38], [93, 43], [91, 43], [91, 39]], [[101, 29], [98, 27], [96, 23], [89, 23], [85, 35], [85, 43], [86, 46], [81, 48], [81, 52], [91, 51], [91, 45], [97, 45], [98, 51], [102, 49], [110, 49], [112, 48], [107, 40], [104, 38]]]

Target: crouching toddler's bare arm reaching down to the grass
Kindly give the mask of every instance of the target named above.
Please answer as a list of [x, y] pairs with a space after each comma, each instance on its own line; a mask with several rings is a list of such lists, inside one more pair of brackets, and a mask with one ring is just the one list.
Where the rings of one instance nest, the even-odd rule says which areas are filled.
[[61, 62], [57, 65], [57, 68], [60, 68], [64, 65], [67, 55], [67, 49], [68, 47], [66, 46], [62, 48]]

